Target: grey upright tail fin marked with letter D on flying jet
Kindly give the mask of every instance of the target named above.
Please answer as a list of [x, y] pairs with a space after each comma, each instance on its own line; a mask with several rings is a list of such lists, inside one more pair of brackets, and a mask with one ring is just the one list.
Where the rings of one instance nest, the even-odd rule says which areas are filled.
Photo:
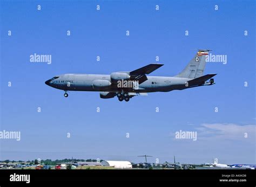
[[175, 77], [195, 79], [201, 77], [205, 69], [205, 58], [211, 50], [198, 50], [197, 54], [190, 60], [190, 63]]

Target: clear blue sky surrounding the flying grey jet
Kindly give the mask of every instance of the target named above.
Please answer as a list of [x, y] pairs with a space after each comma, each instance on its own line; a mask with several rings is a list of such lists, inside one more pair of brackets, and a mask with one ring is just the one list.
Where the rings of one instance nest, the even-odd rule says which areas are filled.
[[[1, 139], [0, 160], [148, 154], [149, 162], [255, 164], [254, 11], [254, 1], [1, 1], [1, 130], [21, 131], [21, 141]], [[151, 75], [172, 76], [200, 48], [227, 55], [225, 65], [206, 64], [205, 74], [218, 74], [214, 86], [119, 102], [97, 92], [64, 98], [44, 84], [64, 73], [132, 71], [156, 56], [165, 65]], [[52, 63], [31, 63], [34, 53]], [[197, 131], [197, 141], [175, 139], [179, 130]]]

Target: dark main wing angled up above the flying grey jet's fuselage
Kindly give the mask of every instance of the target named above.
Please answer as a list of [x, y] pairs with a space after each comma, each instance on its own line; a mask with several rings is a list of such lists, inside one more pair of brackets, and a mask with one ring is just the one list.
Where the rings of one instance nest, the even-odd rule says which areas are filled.
[[146, 74], [150, 74], [161, 66], [163, 66], [163, 64], [149, 64], [137, 70], [131, 71], [129, 75], [131, 76], [132, 80], [138, 80], [139, 84], [142, 84], [142, 82], [147, 80]]

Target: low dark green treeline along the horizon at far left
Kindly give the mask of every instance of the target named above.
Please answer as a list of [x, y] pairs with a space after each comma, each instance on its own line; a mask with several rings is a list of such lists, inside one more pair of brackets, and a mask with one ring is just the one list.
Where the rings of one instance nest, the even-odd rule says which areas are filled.
[[[100, 162], [102, 162], [103, 160], [100, 160]], [[6, 164], [11, 164], [11, 163], [29, 163], [29, 164], [39, 164], [38, 160], [36, 159], [35, 161], [10, 161], [10, 160], [5, 160], [5, 161], [0, 161], [1, 163], [6, 163]], [[55, 160], [52, 161], [51, 159], [46, 159], [46, 160], [41, 160], [41, 164], [45, 164], [45, 165], [56, 165], [58, 163], [66, 163], [66, 162], [97, 162], [97, 160], [95, 159], [68, 159], [65, 158], [63, 160]]]

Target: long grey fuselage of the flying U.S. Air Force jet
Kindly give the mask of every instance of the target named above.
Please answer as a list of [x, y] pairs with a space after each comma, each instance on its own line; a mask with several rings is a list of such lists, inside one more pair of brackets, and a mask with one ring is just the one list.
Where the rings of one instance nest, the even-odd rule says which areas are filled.
[[93, 81], [95, 80], [107, 80], [111, 81], [110, 75], [102, 74], [63, 74], [59, 75], [56, 79], [50, 79], [45, 84], [62, 89], [64, 91], [104, 91], [104, 92], [134, 92], [134, 93], [146, 93], [146, 92], [169, 92], [174, 89], [185, 89], [186, 82], [191, 80], [188, 78], [178, 77], [153, 77], [147, 76], [147, 80], [139, 84], [139, 87], [124, 88], [117, 85], [110, 85], [107, 87], [93, 87]]

